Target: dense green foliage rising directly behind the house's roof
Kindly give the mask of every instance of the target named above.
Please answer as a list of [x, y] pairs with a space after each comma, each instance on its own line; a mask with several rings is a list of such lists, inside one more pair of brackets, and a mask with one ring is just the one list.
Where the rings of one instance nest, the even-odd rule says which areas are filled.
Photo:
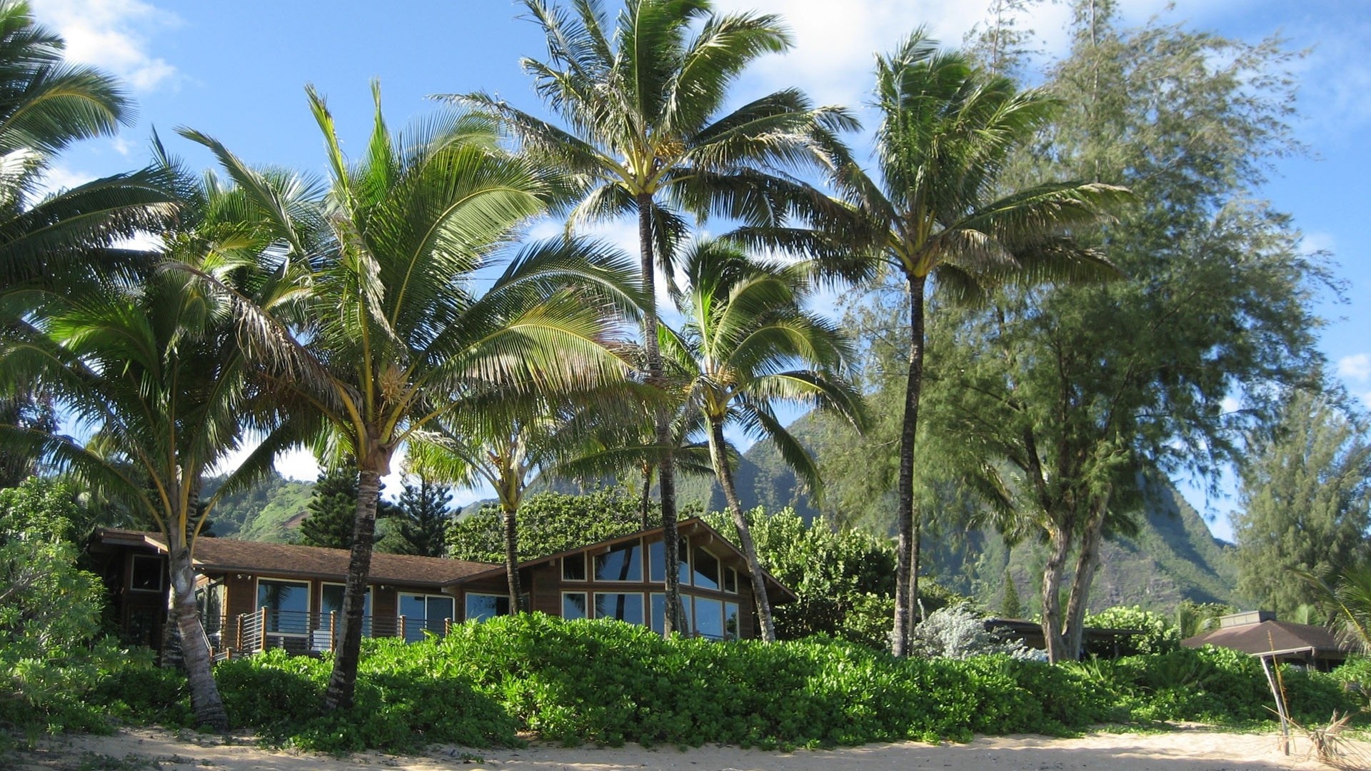
[[[485, 503], [448, 530], [448, 554], [480, 562], [505, 561], [505, 523], [500, 508]], [[636, 532], [642, 528], [639, 501], [622, 487], [584, 495], [539, 493], [518, 510], [518, 557], [533, 560], [568, 549]]]

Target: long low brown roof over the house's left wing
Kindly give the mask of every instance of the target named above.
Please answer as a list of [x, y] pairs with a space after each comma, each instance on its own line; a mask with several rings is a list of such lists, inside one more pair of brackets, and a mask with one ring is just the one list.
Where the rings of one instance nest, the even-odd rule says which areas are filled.
[[[166, 539], [159, 532], [103, 528], [96, 534], [101, 543], [119, 546], [147, 545], [166, 551]], [[291, 543], [262, 543], [230, 538], [197, 538], [195, 567], [214, 573], [255, 573], [287, 578], [319, 578], [343, 582], [351, 553], [347, 549], [324, 549]], [[489, 562], [447, 560], [443, 557], [414, 557], [409, 554], [372, 554], [369, 583], [399, 583], [441, 587], [462, 578], [496, 568]]]

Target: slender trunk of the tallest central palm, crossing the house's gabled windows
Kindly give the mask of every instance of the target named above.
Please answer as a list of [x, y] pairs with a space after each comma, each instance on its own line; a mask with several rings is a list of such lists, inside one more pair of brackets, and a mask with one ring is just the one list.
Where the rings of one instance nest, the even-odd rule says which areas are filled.
[[[657, 347], [657, 261], [653, 259], [653, 196], [638, 193], [638, 248], [639, 269], [643, 272], [643, 292], [647, 307], [643, 309], [643, 350], [647, 354], [647, 380], [661, 388], [662, 353]], [[661, 447], [658, 461], [659, 498], [662, 502], [662, 557], [666, 562], [666, 612], [662, 620], [662, 634], [670, 635], [681, 628], [680, 590], [680, 532], [676, 530], [676, 454], [672, 451], [672, 414], [666, 407], [657, 407], [654, 417], [655, 439]], [[687, 630], [688, 631], [688, 630]]]

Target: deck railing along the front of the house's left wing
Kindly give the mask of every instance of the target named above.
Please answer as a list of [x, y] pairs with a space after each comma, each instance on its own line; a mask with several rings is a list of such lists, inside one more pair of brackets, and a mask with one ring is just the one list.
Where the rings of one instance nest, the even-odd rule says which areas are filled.
[[[206, 620], [206, 634], [217, 660], [251, 656], [273, 648], [293, 654], [318, 654], [341, 642], [343, 615], [337, 610], [276, 610], [260, 608], [252, 613]], [[404, 616], [363, 616], [362, 637], [398, 637], [409, 642], [424, 639], [425, 632], [446, 635], [452, 619], [407, 619]], [[214, 645], [214, 642], [218, 645]]]

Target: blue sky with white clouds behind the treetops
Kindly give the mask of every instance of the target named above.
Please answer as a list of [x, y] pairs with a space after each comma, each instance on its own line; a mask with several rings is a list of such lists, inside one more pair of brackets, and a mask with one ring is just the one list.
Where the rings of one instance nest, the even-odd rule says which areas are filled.
[[[783, 86], [816, 100], [861, 106], [872, 54], [886, 51], [913, 27], [927, 25], [957, 43], [984, 14], [983, 0], [716, 0], [721, 10], [781, 14], [795, 48], [761, 62], [735, 93], [739, 99]], [[1305, 247], [1326, 250], [1346, 283], [1346, 302], [1326, 302], [1322, 348], [1353, 392], [1371, 402], [1371, 263], [1367, 261], [1371, 158], [1371, 3], [1366, 0], [1120, 0], [1126, 21], [1161, 14], [1223, 36], [1257, 41], [1272, 34], [1291, 49], [1309, 49], [1296, 66], [1301, 80], [1297, 137], [1309, 152], [1276, 163], [1257, 191], [1290, 213]], [[367, 84], [380, 78], [393, 128], [435, 108], [435, 93], [489, 91], [540, 110], [520, 56], [542, 56], [536, 27], [518, 19], [509, 0], [34, 0], [41, 22], [66, 40], [73, 59], [99, 64], [129, 84], [138, 118], [112, 140], [93, 140], [60, 158], [52, 184], [64, 187], [147, 162], [154, 128], [174, 154], [208, 166], [207, 154], [173, 134], [191, 126], [222, 140], [258, 165], [322, 174], [318, 129], [306, 107], [304, 85], [329, 99], [344, 143], [359, 147], [370, 119]], [[1068, 10], [1046, 1], [1031, 26], [1047, 55], [1065, 49]], [[866, 121], [871, 123], [872, 121]], [[606, 236], [632, 246], [631, 229]], [[1331, 300], [1331, 298], [1328, 298]], [[308, 475], [293, 458], [284, 471]], [[392, 484], [392, 488], [395, 486]], [[468, 495], [468, 498], [474, 497]], [[1212, 516], [1220, 536], [1231, 531], [1234, 501], [1187, 497]]]

